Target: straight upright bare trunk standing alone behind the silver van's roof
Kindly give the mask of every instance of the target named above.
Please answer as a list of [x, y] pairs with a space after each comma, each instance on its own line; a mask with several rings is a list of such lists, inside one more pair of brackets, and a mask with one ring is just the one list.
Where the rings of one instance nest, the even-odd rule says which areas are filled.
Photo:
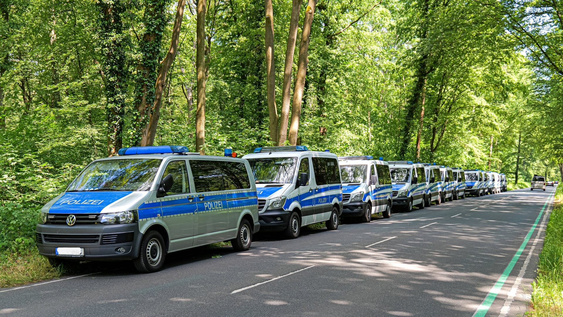
[[197, 48], [195, 69], [198, 77], [198, 104], [195, 110], [195, 151], [205, 154], [205, 0], [198, 0], [198, 23], [196, 25]]

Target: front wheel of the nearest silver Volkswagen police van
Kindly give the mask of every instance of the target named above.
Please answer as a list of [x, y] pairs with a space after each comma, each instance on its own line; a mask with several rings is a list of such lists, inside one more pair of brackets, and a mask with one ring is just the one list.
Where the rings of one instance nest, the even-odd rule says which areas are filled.
[[133, 260], [135, 268], [141, 273], [152, 273], [162, 270], [166, 249], [164, 239], [157, 231], [148, 231], [142, 237], [139, 256]]

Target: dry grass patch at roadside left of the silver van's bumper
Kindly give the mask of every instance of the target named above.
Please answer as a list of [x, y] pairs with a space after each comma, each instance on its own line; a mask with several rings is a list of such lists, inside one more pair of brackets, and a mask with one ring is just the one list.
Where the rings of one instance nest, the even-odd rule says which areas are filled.
[[37, 250], [18, 256], [10, 255], [0, 261], [0, 287], [13, 287], [56, 279], [62, 272], [51, 267], [46, 257]]

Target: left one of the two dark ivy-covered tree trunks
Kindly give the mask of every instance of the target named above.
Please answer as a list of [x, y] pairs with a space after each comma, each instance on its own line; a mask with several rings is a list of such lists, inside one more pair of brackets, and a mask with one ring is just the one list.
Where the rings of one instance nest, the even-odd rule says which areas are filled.
[[125, 69], [126, 41], [121, 15], [125, 12], [121, 0], [99, 0], [101, 50], [105, 56], [102, 73], [105, 78], [106, 115], [108, 116], [108, 155], [113, 156], [122, 147], [123, 118], [127, 93]]

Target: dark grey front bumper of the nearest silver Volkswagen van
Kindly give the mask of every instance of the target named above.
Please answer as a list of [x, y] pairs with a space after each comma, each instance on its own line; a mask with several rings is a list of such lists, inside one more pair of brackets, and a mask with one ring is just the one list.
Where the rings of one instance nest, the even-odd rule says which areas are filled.
[[[35, 240], [39, 254], [48, 258], [74, 260], [124, 260], [138, 257], [142, 234], [138, 223], [127, 224], [83, 224], [65, 226], [60, 224], [37, 224]], [[57, 247], [83, 248], [83, 256], [59, 256]], [[117, 249], [123, 247], [124, 252]]]

